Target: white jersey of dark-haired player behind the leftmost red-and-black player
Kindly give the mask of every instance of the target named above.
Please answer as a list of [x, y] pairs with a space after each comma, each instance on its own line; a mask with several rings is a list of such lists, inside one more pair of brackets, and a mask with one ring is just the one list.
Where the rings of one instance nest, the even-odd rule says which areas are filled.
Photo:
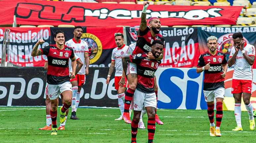
[[[84, 52], [89, 52], [87, 43], [81, 39], [79, 40], [79, 42], [76, 42], [75, 39], [72, 38], [72, 39], [66, 41], [65, 45], [73, 48], [75, 55], [78, 56], [80, 58], [80, 60], [83, 62], [83, 66], [77, 74], [84, 75], [85, 74]], [[69, 62], [71, 65], [71, 60], [69, 60]], [[72, 69], [71, 69], [71, 71], [72, 71]]]

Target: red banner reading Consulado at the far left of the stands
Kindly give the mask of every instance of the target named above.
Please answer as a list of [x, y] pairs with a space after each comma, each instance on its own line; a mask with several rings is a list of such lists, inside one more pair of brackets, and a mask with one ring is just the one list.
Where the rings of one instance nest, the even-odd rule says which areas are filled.
[[31, 56], [31, 51], [39, 39], [45, 42], [38, 46], [38, 49], [50, 43], [50, 28], [0, 28], [0, 58], [2, 57], [2, 46], [5, 29], [10, 29], [9, 46], [7, 47], [7, 60], [17, 66], [44, 66], [46, 56]]

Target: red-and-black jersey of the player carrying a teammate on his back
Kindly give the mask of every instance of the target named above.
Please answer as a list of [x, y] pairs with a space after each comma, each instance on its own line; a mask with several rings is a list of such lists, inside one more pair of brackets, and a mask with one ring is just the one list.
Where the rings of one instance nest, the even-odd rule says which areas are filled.
[[144, 93], [153, 93], [155, 71], [161, 61], [149, 60], [147, 57], [146, 53], [130, 55], [130, 62], [137, 64], [137, 89]]

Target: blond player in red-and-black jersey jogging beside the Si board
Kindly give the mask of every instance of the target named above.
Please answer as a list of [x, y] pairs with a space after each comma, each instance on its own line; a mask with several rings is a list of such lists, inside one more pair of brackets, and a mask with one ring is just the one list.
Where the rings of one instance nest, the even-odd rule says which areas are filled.
[[[210, 136], [221, 136], [222, 103], [224, 99], [224, 77], [227, 72], [227, 60], [224, 53], [217, 51], [215, 36], [207, 38], [209, 50], [200, 55], [196, 72], [204, 71], [203, 93], [207, 102], [207, 113], [210, 120]], [[214, 98], [216, 99], [216, 129], [214, 124]]]

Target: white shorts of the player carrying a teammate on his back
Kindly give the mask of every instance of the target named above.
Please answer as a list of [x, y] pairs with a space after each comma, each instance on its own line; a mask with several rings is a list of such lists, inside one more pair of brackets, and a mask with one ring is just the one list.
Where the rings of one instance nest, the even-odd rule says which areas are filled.
[[143, 107], [156, 108], [155, 93], [144, 93], [136, 89], [133, 96], [133, 109], [141, 111]]

